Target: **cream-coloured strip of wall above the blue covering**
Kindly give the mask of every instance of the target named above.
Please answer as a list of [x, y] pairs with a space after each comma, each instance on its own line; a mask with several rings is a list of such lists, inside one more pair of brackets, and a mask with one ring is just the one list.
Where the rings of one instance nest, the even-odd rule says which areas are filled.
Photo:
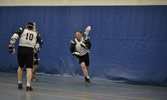
[[0, 0], [0, 6], [167, 5], [167, 0]]

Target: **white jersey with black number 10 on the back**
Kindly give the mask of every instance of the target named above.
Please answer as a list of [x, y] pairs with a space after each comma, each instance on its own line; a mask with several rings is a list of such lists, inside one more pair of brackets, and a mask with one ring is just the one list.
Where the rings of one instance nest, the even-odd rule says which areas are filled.
[[15, 43], [15, 40], [18, 39], [19, 37], [20, 37], [19, 46], [30, 47], [30, 48], [35, 47], [36, 41], [37, 41], [36, 32], [32, 30], [24, 29], [21, 34], [15, 33], [12, 36], [10, 43]]

